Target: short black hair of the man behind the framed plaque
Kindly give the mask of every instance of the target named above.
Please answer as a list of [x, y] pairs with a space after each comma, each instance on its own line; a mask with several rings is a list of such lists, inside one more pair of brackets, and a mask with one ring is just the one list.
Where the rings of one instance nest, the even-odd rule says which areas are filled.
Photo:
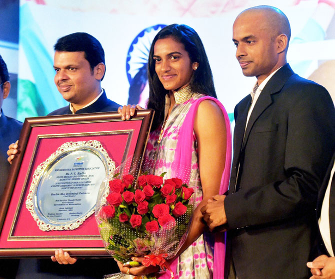
[[[63, 36], [53, 46], [55, 51], [83, 51], [85, 59], [89, 62], [91, 70], [98, 63], [104, 64], [104, 51], [100, 42], [85, 32], [76, 32]], [[101, 80], [103, 77], [101, 78]]]

